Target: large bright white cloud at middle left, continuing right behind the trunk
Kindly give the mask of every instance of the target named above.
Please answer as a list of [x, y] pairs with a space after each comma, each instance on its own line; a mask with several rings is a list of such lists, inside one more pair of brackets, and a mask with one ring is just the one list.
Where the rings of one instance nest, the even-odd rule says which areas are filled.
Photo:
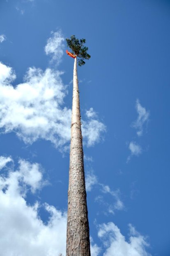
[[[71, 109], [63, 107], [67, 89], [62, 72], [47, 68], [29, 68], [25, 82], [13, 87], [12, 68], [0, 63], [0, 128], [16, 132], [25, 143], [46, 139], [64, 150], [70, 141]], [[83, 121], [87, 146], [100, 141], [105, 125], [94, 118]], [[67, 148], [67, 146], [66, 146]]]

